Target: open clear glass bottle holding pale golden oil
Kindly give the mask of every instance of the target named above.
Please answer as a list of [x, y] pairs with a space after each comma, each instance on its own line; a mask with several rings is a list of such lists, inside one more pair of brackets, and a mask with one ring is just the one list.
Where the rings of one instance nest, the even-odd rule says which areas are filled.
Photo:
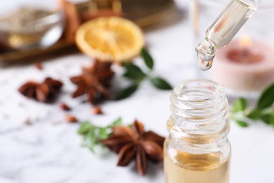
[[223, 87], [187, 80], [171, 94], [164, 143], [165, 183], [228, 183], [228, 101]]

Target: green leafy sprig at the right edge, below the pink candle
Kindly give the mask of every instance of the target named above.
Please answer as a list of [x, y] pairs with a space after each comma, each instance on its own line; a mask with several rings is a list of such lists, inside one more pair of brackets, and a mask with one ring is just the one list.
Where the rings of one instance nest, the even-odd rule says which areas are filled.
[[230, 118], [241, 127], [249, 126], [255, 120], [265, 122], [274, 127], [274, 84], [271, 84], [261, 93], [256, 106], [248, 107], [247, 99], [240, 98], [233, 103]]

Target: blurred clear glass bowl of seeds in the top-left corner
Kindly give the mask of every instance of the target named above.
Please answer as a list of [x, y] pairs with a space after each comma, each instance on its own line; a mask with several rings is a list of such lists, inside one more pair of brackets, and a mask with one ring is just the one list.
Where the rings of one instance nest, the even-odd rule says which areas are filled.
[[48, 4], [37, 0], [1, 2], [1, 45], [25, 50], [55, 44], [63, 33], [64, 12], [53, 0], [46, 2]]

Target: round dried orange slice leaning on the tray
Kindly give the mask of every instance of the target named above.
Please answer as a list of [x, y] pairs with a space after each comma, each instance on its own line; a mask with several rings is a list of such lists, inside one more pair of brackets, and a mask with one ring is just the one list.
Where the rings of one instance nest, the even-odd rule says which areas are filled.
[[141, 29], [130, 20], [101, 17], [79, 27], [76, 44], [83, 53], [101, 61], [128, 61], [138, 56], [144, 38]]

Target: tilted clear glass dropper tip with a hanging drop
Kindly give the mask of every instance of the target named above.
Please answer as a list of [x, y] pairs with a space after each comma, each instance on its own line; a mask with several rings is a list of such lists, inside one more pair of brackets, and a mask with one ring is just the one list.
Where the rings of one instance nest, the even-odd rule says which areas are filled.
[[196, 47], [201, 70], [211, 68], [216, 50], [226, 46], [254, 14], [264, 0], [231, 0], [209, 26], [206, 36]]

